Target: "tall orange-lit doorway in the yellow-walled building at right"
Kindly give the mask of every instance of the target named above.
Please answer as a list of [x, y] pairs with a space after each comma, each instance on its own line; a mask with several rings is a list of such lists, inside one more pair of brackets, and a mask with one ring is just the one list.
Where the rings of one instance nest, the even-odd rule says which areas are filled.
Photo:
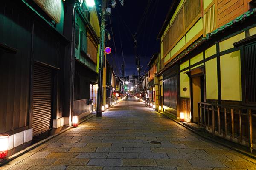
[[198, 123], [198, 102], [204, 102], [204, 76], [192, 77], [192, 122]]

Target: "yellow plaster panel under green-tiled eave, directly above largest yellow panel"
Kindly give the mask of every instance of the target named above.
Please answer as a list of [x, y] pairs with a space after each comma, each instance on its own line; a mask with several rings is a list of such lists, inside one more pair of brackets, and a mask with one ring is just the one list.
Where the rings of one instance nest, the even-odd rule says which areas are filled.
[[235, 35], [233, 37], [228, 38], [227, 40], [220, 42], [220, 52], [228, 50], [230, 48], [233, 48], [233, 43], [238, 42], [245, 38], [245, 32], [242, 32], [241, 34]]

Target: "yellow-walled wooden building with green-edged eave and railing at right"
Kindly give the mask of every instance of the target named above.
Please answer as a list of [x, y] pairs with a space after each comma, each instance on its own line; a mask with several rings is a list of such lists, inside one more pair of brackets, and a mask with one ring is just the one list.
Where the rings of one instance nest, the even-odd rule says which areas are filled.
[[163, 111], [251, 149], [255, 7], [255, 0], [174, 0], [158, 36]]

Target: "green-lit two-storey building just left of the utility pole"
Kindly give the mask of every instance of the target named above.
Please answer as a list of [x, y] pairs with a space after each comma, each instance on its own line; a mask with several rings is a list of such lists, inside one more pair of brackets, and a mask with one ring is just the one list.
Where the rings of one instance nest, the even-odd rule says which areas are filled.
[[[96, 110], [99, 65], [99, 19], [85, 2], [76, 10], [73, 115], [80, 119]], [[90, 102], [92, 100], [92, 104]]]

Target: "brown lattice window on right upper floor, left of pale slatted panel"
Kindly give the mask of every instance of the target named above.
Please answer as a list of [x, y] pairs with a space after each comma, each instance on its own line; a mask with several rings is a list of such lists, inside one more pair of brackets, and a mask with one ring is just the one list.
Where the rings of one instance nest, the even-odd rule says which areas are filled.
[[185, 28], [188, 28], [189, 25], [201, 14], [201, 3], [200, 0], [186, 0], [184, 3], [185, 10]]

